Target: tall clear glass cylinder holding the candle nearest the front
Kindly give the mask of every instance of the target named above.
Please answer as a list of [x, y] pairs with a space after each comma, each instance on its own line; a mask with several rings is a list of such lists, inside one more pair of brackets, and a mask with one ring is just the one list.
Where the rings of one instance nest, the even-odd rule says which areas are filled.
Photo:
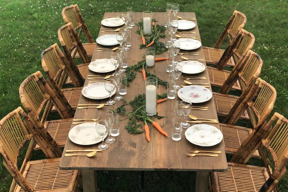
[[149, 116], [157, 113], [157, 83], [156, 77], [145, 79], [145, 110]]

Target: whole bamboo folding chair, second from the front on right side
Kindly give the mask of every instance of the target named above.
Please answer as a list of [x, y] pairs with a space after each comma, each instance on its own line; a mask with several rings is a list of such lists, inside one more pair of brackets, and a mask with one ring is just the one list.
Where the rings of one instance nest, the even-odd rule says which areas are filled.
[[[260, 78], [238, 98], [223, 123], [219, 123], [223, 134], [225, 152], [235, 153], [253, 130], [258, 130], [265, 123], [274, 107], [275, 100], [276, 91], [274, 87]], [[253, 128], [235, 126], [235, 123], [247, 108], [250, 108], [253, 112], [253, 116], [250, 117], [250, 120], [253, 119], [254, 122], [254, 124], [252, 123]], [[253, 154], [253, 157], [260, 157], [258, 150]]]

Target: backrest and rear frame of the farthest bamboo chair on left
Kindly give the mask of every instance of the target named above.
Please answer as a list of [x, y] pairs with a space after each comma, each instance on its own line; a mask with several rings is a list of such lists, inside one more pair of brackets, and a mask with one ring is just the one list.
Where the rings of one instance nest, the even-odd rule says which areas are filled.
[[88, 41], [90, 43], [94, 43], [94, 40], [86, 26], [86, 23], [84, 22], [84, 19], [82, 17], [82, 14], [77, 4], [64, 7], [64, 9], [62, 9], [62, 17], [66, 24], [71, 22], [75, 30], [79, 29], [79, 32], [78, 32], [79, 38], [83, 31]]

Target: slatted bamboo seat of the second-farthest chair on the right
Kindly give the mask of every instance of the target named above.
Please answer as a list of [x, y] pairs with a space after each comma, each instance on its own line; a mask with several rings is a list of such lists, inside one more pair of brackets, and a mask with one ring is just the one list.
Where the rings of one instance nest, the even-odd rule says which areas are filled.
[[[218, 70], [214, 67], [208, 67], [208, 66], [207, 71], [211, 85], [216, 87], [221, 87], [231, 73], [231, 71]], [[234, 83], [231, 89], [241, 90], [240, 83], [238, 80]]]

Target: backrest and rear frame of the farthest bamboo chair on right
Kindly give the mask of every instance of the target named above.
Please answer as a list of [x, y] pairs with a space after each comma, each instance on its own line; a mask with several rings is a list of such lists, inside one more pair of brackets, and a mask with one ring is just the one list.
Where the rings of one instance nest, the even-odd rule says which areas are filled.
[[238, 35], [239, 31], [244, 28], [246, 21], [246, 16], [243, 13], [235, 10], [227, 22], [225, 29], [214, 45], [214, 48], [219, 49], [226, 37], [228, 38], [229, 43], [231, 43], [231, 41], [233, 41], [233, 39]]

